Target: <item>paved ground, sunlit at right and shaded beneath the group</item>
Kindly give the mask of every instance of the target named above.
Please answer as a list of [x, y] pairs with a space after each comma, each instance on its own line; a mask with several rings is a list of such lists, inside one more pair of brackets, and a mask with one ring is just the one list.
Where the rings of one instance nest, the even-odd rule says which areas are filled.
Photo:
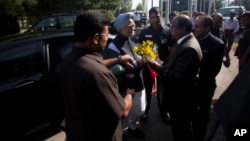
[[[237, 41], [237, 39], [236, 39]], [[233, 56], [233, 49], [230, 52], [231, 56], [231, 65], [229, 68], [225, 68], [222, 65], [221, 71], [218, 74], [217, 80], [217, 89], [215, 91], [215, 95], [213, 97], [213, 103], [221, 96], [224, 90], [228, 87], [228, 85], [232, 82], [234, 77], [238, 73], [238, 65], [237, 59]], [[212, 107], [213, 107], [212, 103]], [[211, 118], [207, 130], [207, 138], [211, 137], [211, 141], [226, 141], [223, 130], [219, 126], [215, 128], [216, 125], [216, 116], [211, 110]], [[170, 125], [166, 125], [161, 121], [159, 116], [159, 110], [157, 107], [156, 97], [152, 97], [152, 107], [149, 112], [149, 118], [146, 122], [140, 124], [141, 129], [146, 134], [146, 139], [144, 141], [173, 141]], [[216, 130], [215, 130], [216, 129]], [[105, 129], [104, 129], [105, 130]], [[215, 132], [214, 136], [211, 136]], [[127, 128], [125, 126], [124, 133], [128, 138], [128, 141], [141, 141], [140, 139], [136, 139], [130, 136], [127, 133]], [[63, 131], [58, 132], [57, 134], [49, 137], [46, 141], [65, 141], [65, 133]]]

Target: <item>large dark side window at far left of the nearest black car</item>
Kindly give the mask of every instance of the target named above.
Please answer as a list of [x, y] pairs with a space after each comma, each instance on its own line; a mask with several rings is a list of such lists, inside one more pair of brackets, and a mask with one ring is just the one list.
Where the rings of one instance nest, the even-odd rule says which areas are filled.
[[0, 83], [34, 74], [41, 70], [37, 43], [17, 46], [0, 54]]

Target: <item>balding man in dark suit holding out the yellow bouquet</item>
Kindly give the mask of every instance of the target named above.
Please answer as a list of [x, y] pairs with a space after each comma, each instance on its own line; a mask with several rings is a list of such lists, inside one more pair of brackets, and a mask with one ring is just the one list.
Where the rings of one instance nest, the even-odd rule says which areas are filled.
[[192, 100], [202, 52], [187, 15], [173, 19], [171, 32], [177, 41], [175, 49], [162, 65], [150, 60], [149, 66], [159, 74], [159, 90], [169, 107], [174, 141], [192, 141]]

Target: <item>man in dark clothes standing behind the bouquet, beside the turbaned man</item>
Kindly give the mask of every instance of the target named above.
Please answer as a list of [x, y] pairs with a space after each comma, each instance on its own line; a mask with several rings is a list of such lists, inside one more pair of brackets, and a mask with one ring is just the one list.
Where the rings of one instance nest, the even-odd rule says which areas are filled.
[[[138, 37], [138, 41], [142, 43], [143, 41], [150, 40], [157, 44], [158, 46], [158, 57], [161, 61], [164, 61], [169, 53], [170, 48], [175, 44], [175, 40], [172, 39], [169, 27], [161, 24], [161, 10], [159, 7], [152, 7], [149, 10], [149, 22], [150, 25], [146, 26]], [[145, 76], [145, 88], [147, 94], [147, 107], [145, 114], [141, 117], [142, 121], [146, 121], [148, 117], [148, 112], [151, 107], [151, 92], [152, 83], [151, 76]], [[169, 115], [167, 107], [162, 108], [161, 104], [161, 94], [157, 94], [157, 102], [160, 110], [160, 115], [165, 123], [169, 123]]]

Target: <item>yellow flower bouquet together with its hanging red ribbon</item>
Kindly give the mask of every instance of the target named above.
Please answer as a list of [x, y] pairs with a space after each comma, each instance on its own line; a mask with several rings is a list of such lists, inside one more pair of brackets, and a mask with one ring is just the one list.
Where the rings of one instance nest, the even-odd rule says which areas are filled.
[[[143, 41], [142, 44], [135, 46], [133, 50], [136, 54], [142, 56], [143, 58], [157, 60], [157, 57], [158, 57], [157, 45], [153, 41], [150, 41], [150, 40]], [[158, 75], [153, 69], [149, 68], [149, 70], [150, 70], [150, 76], [153, 79], [153, 86], [152, 86], [151, 94], [156, 96]]]

